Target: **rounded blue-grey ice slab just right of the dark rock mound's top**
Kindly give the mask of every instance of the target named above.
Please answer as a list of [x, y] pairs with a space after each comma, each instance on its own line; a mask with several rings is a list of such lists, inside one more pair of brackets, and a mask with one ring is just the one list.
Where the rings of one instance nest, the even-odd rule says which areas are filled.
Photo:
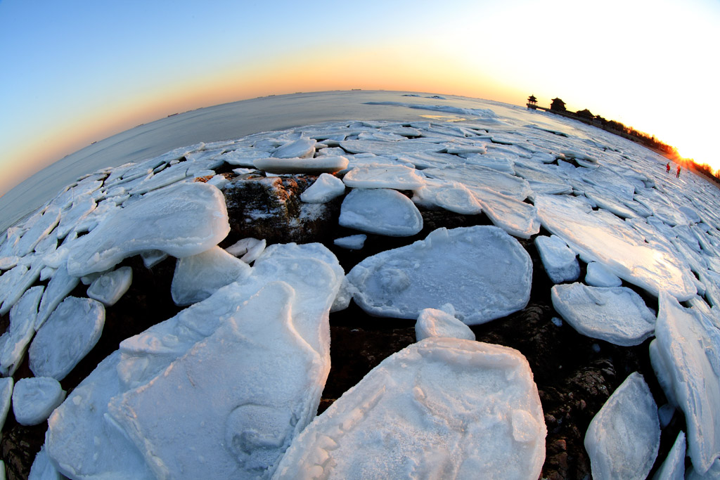
[[423, 216], [413, 201], [389, 189], [353, 189], [343, 199], [342, 227], [390, 237], [408, 237], [423, 230]]

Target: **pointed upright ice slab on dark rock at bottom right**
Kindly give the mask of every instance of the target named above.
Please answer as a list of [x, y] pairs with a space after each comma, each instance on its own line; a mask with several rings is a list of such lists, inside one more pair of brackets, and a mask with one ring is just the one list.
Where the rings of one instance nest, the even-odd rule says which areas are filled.
[[658, 448], [657, 405], [642, 375], [631, 373], [593, 417], [585, 433], [593, 479], [643, 480]]

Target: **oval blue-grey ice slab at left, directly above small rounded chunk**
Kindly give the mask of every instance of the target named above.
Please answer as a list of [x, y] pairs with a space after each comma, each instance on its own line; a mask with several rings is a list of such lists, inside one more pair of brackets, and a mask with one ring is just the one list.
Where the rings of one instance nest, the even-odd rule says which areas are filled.
[[30, 370], [58, 381], [75, 368], [99, 340], [105, 307], [93, 299], [68, 296], [58, 305], [30, 344]]

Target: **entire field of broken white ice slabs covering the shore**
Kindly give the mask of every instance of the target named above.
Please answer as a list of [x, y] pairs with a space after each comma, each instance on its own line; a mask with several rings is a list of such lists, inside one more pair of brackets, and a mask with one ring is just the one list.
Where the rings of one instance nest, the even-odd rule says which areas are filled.
[[[653, 467], [661, 479], [686, 468], [717, 478], [717, 186], [667, 175], [660, 155], [570, 120], [554, 130], [537, 113], [510, 128], [492, 109], [461, 113], [179, 148], [80, 178], [10, 227], [0, 412], [47, 422], [31, 478], [537, 479], [547, 429], [531, 367], [471, 329], [526, 307], [528, 248], [555, 284], [557, 324], [615, 345], [647, 341], [664, 393], [631, 373], [611, 394], [584, 437], [593, 478], [644, 479]], [[336, 248], [418, 235], [423, 212], [484, 214], [488, 225], [438, 228], [349, 271], [321, 243], [220, 248], [233, 184], [298, 175], [312, 176], [301, 217], [339, 204], [335, 221], [352, 233]], [[171, 295], [184, 308], [63, 391], [130, 288], [132, 268], [117, 266], [132, 255], [143, 268], [177, 258]], [[86, 296], [71, 296], [81, 284]], [[351, 302], [417, 320], [418, 341], [317, 415], [330, 312]], [[14, 380], [26, 359], [34, 376]], [[659, 407], [686, 425], [667, 458]]]

